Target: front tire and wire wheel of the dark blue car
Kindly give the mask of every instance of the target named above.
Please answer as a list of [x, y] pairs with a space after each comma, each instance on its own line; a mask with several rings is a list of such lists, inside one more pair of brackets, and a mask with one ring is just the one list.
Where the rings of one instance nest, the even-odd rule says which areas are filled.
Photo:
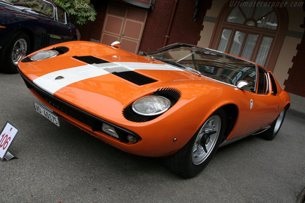
[[17, 73], [17, 63], [30, 52], [30, 38], [22, 31], [17, 31], [0, 50], [0, 71]]

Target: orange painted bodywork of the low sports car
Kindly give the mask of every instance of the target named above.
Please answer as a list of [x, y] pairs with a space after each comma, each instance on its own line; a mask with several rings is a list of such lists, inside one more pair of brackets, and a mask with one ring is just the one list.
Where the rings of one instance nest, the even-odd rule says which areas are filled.
[[[109, 62], [130, 63], [131, 66], [135, 63], [143, 63], [141, 65], [147, 66], [163, 65], [161, 62], [99, 43], [76, 41], [59, 45], [69, 47], [70, 51], [41, 61], [20, 62], [18, 66], [21, 74], [33, 82], [33, 80], [52, 72], [87, 65], [72, 58], [75, 55], [91, 55]], [[42, 50], [53, 47], [46, 47]], [[237, 121], [227, 137], [229, 140], [270, 125], [279, 112], [290, 102], [289, 95], [280, 89], [277, 82], [278, 94], [276, 96], [272, 95], [271, 91], [268, 94], [257, 95], [203, 76], [200, 77], [191, 72], [179, 70], [179, 68], [176, 70], [136, 69], [135, 72], [158, 81], [138, 86], [116, 75], [104, 74], [63, 86], [53, 95], [89, 114], [136, 133], [142, 138], [136, 144], [123, 143], [102, 132], [92, 131], [88, 125], [57, 110], [33, 89], [30, 90], [60, 117], [100, 140], [122, 151], [151, 157], [169, 156], [177, 152], [192, 138], [215, 110], [226, 104], [234, 104], [238, 109]], [[75, 74], [82, 74], [82, 72]], [[125, 107], [138, 98], [151, 95], [163, 87], [174, 87], [181, 91], [181, 98], [173, 107], [147, 122], [136, 123], [124, 118], [122, 110]], [[251, 99], [254, 101], [252, 109], [250, 109]], [[177, 138], [176, 142], [173, 142], [174, 138]]]

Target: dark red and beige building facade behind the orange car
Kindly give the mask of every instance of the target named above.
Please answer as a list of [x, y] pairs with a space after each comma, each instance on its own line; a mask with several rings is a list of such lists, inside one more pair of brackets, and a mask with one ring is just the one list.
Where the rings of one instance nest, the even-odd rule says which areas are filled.
[[[176, 42], [249, 59], [272, 71], [293, 98], [305, 101], [303, 0], [94, 1], [95, 22], [81, 40], [149, 52]], [[293, 101], [292, 101], [293, 105]], [[304, 110], [305, 112], [305, 110]]]

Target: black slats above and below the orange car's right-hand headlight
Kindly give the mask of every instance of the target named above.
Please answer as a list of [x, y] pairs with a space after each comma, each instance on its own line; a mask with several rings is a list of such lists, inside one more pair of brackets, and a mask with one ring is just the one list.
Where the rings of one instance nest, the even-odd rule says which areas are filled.
[[[152, 95], [159, 95], [159, 96], [166, 97], [167, 99], [170, 100], [170, 103], [171, 103], [170, 107], [172, 107], [180, 99], [181, 91], [177, 88], [165, 87], [165, 88], [156, 90], [155, 92], [153, 92]], [[128, 105], [126, 108], [124, 108], [123, 112], [122, 112], [123, 116], [128, 121], [141, 123], [141, 122], [151, 121], [151, 120], [155, 119], [156, 117], [160, 116], [160, 115], [156, 115], [156, 116], [139, 115], [132, 110], [131, 106], [132, 106], [132, 103], [130, 105]]]

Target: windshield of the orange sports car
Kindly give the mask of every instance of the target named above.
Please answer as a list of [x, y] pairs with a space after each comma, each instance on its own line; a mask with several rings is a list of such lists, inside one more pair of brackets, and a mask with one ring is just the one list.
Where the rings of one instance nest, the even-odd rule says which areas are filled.
[[249, 89], [255, 90], [256, 65], [228, 54], [188, 44], [173, 44], [148, 55], [230, 85], [236, 86], [239, 80], [246, 80], [250, 83]]

